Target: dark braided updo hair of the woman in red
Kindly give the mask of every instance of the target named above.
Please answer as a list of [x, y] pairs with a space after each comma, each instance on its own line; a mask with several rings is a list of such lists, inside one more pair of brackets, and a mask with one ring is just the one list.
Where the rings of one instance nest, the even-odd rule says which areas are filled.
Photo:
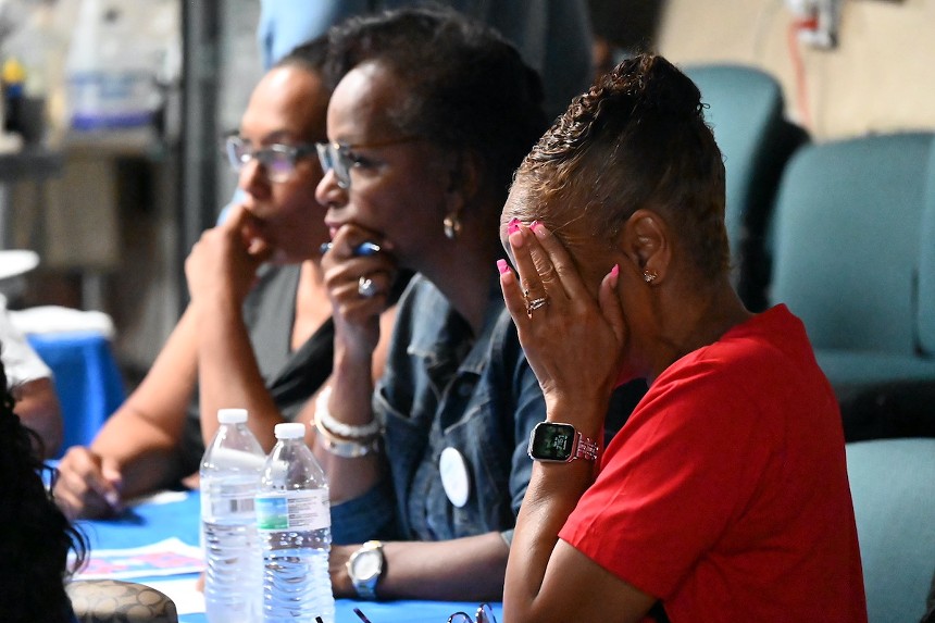
[[[538, 219], [561, 236], [587, 219], [611, 239], [636, 210], [669, 216], [702, 274], [730, 270], [724, 162], [698, 87], [654, 54], [621, 62], [575, 98], [518, 172]], [[570, 244], [573, 246], [573, 242]]]

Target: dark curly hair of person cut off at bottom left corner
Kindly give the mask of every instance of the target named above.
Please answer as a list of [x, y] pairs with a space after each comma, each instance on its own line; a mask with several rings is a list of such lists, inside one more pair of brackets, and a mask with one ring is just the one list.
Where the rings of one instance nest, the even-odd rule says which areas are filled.
[[[0, 621], [62, 623], [72, 612], [64, 583], [83, 564], [87, 539], [43, 482], [54, 470], [36, 451], [38, 435], [14, 412], [2, 362], [0, 385]], [[71, 566], [70, 551], [76, 555]]]

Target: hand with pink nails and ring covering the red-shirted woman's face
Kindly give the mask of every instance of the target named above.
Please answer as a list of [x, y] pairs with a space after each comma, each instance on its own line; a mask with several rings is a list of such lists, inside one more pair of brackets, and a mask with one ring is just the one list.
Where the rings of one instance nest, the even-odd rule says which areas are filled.
[[[607, 401], [618, 383], [626, 341], [616, 292], [619, 267], [604, 276], [595, 299], [566, 249], [544, 225], [514, 222], [511, 229], [518, 275], [501, 261], [500, 286], [549, 410]], [[569, 421], [571, 415], [565, 410], [562, 418]]]

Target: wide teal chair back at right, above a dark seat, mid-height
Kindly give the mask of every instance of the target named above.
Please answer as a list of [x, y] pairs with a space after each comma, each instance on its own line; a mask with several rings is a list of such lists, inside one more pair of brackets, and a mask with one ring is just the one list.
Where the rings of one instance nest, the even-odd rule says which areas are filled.
[[816, 349], [917, 356], [932, 136], [811, 145], [786, 169], [774, 215], [771, 298], [802, 319]]

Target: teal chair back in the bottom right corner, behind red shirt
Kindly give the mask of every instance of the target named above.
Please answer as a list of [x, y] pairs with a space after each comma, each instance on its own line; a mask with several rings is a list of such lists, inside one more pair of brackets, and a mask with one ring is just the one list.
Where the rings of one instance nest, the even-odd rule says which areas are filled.
[[870, 623], [918, 622], [935, 573], [935, 439], [847, 446]]

